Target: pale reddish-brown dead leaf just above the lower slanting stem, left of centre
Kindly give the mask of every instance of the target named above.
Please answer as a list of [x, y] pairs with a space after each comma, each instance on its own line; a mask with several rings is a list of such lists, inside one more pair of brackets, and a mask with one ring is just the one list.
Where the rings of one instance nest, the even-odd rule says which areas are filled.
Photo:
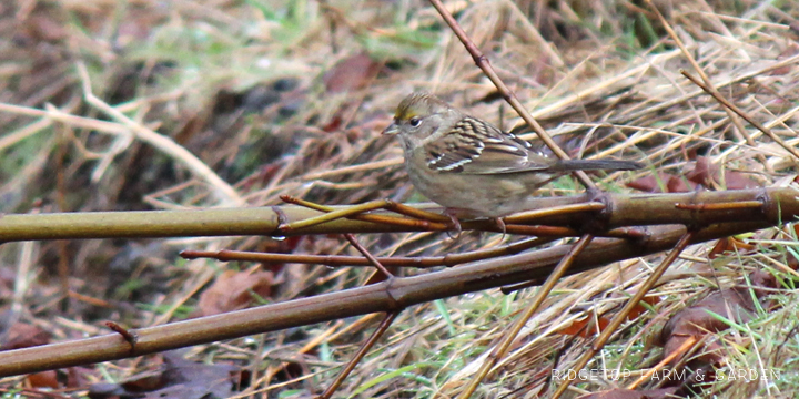
[[256, 298], [255, 296], [269, 297], [273, 283], [272, 272], [226, 270], [200, 296], [198, 304], [200, 315], [193, 316], [211, 316], [243, 309]]

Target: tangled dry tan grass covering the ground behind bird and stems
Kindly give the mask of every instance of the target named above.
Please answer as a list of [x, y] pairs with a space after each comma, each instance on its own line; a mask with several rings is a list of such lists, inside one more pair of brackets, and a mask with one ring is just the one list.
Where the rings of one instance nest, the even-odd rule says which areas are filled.
[[[744, 123], [752, 140], [747, 144], [724, 108], [679, 74], [679, 69], [696, 72], [656, 19], [640, 12], [645, 7], [550, 3], [447, 6], [566, 151], [647, 162], [640, 173], [603, 177], [601, 187], [627, 190], [624, 182], [654, 171], [681, 174], [697, 155], [761, 185], [793, 181], [796, 160]], [[799, 8], [791, 2], [740, 1], [735, 8], [704, 1], [659, 3], [716, 88], [796, 145]], [[0, 104], [0, 211], [7, 213], [261, 206], [280, 204], [281, 194], [325, 204], [421, 201], [400, 167], [398, 146], [378, 134], [408, 92], [433, 91], [506, 129], [519, 125], [422, 1], [58, 0], [20, 1], [0, 6], [0, 102], [24, 108]], [[371, 57], [366, 64], [375, 74], [357, 71], [363, 65], [354, 63], [357, 54]], [[331, 72], [342, 63], [348, 66]], [[80, 65], [85, 65], [85, 76]], [[352, 79], [350, 86], [346, 79]], [[84, 101], [82, 84], [90, 84], [100, 101], [123, 115]], [[336, 92], [341, 85], [347, 90]], [[164, 136], [174, 142], [161, 140]], [[204, 172], [204, 165], [210, 170]], [[716, 188], [724, 185], [719, 182]], [[548, 192], [568, 195], [576, 188], [565, 177]], [[772, 236], [775, 232], [761, 232], [752, 238]], [[718, 286], [741, 284], [745, 270], [766, 267], [782, 276], [786, 288], [792, 287], [789, 268], [775, 263], [787, 265], [796, 258], [796, 237], [779, 237], [786, 243], [766, 243], [756, 254], [712, 262], [708, 246], [690, 247], [651, 294], [658, 300], [650, 311], [620, 330], [589, 367], [640, 370], [654, 365], [659, 348], [649, 342], [669, 315]], [[360, 239], [375, 255], [432, 255], [514, 238], [464, 234], [453, 241], [419, 233]], [[99, 334], [104, 319], [148, 326], [181, 318], [182, 307], [195, 306], [196, 293], [221, 269], [247, 267], [176, 260], [175, 252], [188, 246], [356, 255], [338, 237], [7, 244], [0, 248], [0, 297], [12, 303], [9, 276], [31, 279], [27, 291], [17, 290], [24, 298], [22, 319], [45, 326], [57, 339], [77, 331]], [[635, 259], [564, 278], [479, 396], [537, 397], [555, 355], [557, 367], [566, 369], [589, 342], [557, 331], [577, 319], [613, 314], [658, 260]], [[59, 262], [70, 268], [72, 290], [113, 306], [74, 301], [64, 317], [57, 316], [49, 307], [58, 299]], [[20, 272], [26, 263], [29, 274]], [[357, 268], [265, 267], [277, 270], [282, 282], [269, 298], [274, 301], [356, 286], [368, 277]], [[503, 296], [493, 290], [407, 309], [338, 396], [456, 395], [533, 293], [528, 288]], [[775, 293], [782, 307], [763, 310], [742, 329], [719, 334], [729, 370], [779, 369], [781, 378], [722, 381], [708, 391], [717, 389], [728, 398], [797, 395], [791, 371], [799, 358], [795, 295], [790, 289]], [[142, 308], [117, 305], [121, 303]], [[305, 397], [327, 385], [375, 320], [367, 316], [198, 347], [191, 356], [256, 365], [254, 391]], [[332, 335], [305, 348], [299, 360], [301, 348], [323, 334]], [[292, 367], [277, 372], [286, 359], [302, 371]], [[119, 361], [108, 374], [124, 379], [140, 366]], [[262, 378], [264, 374], [274, 378]], [[594, 377], [575, 389], [624, 386]], [[84, 378], [105, 379], [97, 371], [87, 371]]]

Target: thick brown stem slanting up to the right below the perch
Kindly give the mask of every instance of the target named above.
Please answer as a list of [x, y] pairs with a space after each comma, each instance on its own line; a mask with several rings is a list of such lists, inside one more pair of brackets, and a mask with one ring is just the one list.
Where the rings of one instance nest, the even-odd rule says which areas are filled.
[[[796, 204], [795, 204], [796, 205]], [[788, 215], [786, 215], [788, 216]], [[792, 216], [791, 216], [792, 217]], [[773, 225], [771, 221], [717, 224], [698, 229], [691, 243], [705, 242]], [[595, 238], [575, 258], [568, 273], [672, 248], [684, 226], [649, 227], [645, 241]], [[254, 307], [132, 331], [131, 350], [118, 334], [0, 352], [0, 377], [142, 356], [222, 339], [324, 323], [377, 311], [393, 311], [434, 299], [474, 293], [523, 280], [543, 279], [567, 254], [564, 246], [465, 264], [459, 267], [337, 293]]]

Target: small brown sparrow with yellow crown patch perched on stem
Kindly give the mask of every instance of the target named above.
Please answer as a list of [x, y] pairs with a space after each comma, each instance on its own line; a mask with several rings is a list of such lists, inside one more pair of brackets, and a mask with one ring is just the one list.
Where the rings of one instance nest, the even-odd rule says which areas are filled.
[[631, 161], [548, 158], [428, 93], [405, 98], [383, 134], [400, 137], [411, 182], [422, 194], [469, 217], [528, 211], [535, 207], [530, 194], [570, 171], [643, 167]]

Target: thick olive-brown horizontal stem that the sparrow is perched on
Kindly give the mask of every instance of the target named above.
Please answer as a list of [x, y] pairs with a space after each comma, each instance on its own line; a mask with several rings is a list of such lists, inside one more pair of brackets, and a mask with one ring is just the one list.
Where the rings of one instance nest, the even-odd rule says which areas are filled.
[[[616, 227], [659, 224], [707, 226], [712, 223], [732, 223], [732, 221], [760, 221], [773, 225], [799, 216], [798, 194], [799, 192], [791, 187], [679, 194], [603, 194], [593, 201], [605, 203], [604, 211], [588, 209], [581, 213], [554, 214], [536, 218], [535, 222], [547, 226], [573, 228], [576, 226], [588, 233], [599, 233]], [[553, 203], [553, 198], [540, 200], [543, 205]], [[586, 196], [556, 200], [574, 204], [585, 201]], [[754, 203], [751, 202], [754, 201], [759, 202], [762, 206], [752, 207]], [[707, 204], [734, 202], [747, 202], [747, 206], [742, 208], [707, 206]], [[429, 208], [429, 206], [417, 207]], [[299, 206], [283, 206], [280, 209], [290, 223], [321, 215], [317, 211]], [[236, 235], [280, 237], [307, 234], [425, 231], [422, 225], [404, 226], [340, 218], [283, 233], [277, 229], [279, 223], [277, 213], [271, 207], [3, 215], [0, 217], [0, 243], [38, 239]], [[461, 223], [461, 227], [463, 229], [496, 231], [496, 224], [492, 221], [466, 221]]]

